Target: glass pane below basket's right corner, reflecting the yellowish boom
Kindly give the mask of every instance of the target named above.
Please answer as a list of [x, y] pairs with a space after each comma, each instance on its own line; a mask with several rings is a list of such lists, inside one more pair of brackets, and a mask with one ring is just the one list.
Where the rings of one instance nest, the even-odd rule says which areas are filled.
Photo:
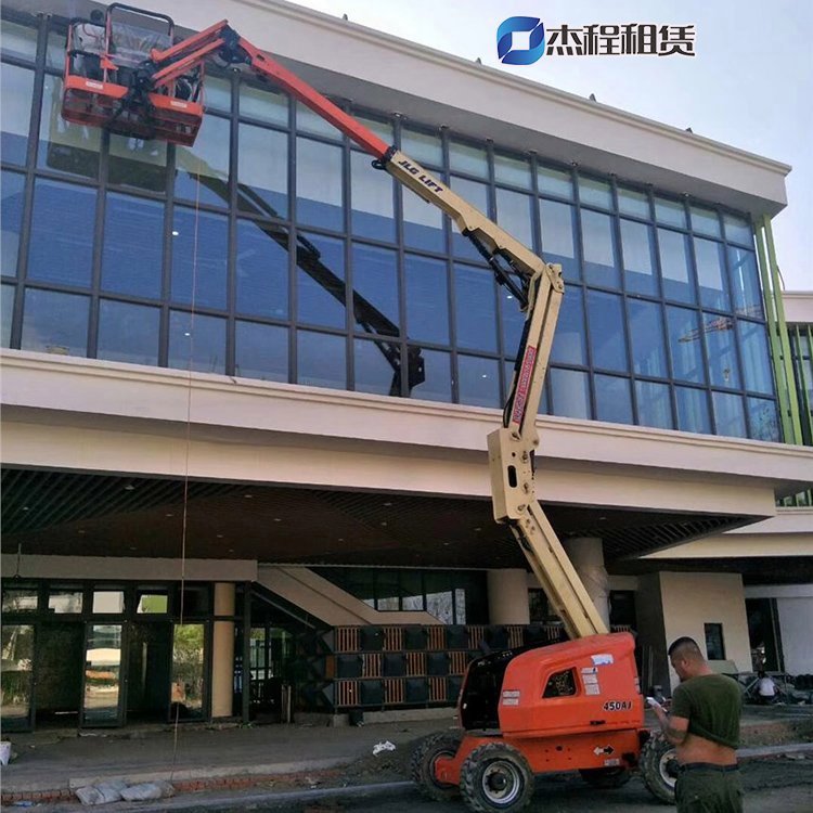
[[[194, 146], [176, 146], [176, 197], [214, 206], [229, 205], [230, 127], [228, 118], [204, 116]], [[241, 149], [241, 156], [242, 152]], [[263, 157], [264, 165], [273, 163], [268, 154]], [[260, 175], [261, 170], [255, 168], [255, 176]]]

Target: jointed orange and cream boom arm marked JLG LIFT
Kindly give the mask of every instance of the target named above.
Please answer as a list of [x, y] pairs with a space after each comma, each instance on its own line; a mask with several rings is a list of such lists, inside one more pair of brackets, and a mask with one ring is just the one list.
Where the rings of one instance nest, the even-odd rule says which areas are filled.
[[165, 51], [151, 53], [151, 87], [175, 81], [206, 57], [248, 67], [326, 119], [374, 157], [387, 171], [455, 222], [485, 257], [498, 282], [515, 295], [526, 314], [503, 426], [489, 435], [494, 518], [507, 524], [571, 638], [607, 632], [573, 566], [540, 507], [534, 490], [535, 422], [554, 331], [564, 293], [562, 268], [545, 263], [482, 212], [400, 150], [260, 51], [225, 21]]

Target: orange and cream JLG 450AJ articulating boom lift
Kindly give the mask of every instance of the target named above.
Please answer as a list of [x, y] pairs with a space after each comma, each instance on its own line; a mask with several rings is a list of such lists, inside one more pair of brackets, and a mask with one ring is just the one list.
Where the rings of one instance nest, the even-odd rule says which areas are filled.
[[[525, 312], [503, 425], [489, 435], [494, 517], [509, 526], [569, 642], [473, 661], [460, 697], [459, 736], [424, 740], [413, 776], [435, 799], [462, 793], [475, 811], [516, 811], [533, 774], [580, 770], [596, 787], [641, 767], [649, 789], [673, 798], [669, 746], [644, 728], [628, 633], [608, 634], [539, 505], [535, 422], [564, 293], [562, 269], [468, 205], [420, 164], [241, 37], [225, 21], [173, 42], [169, 17], [121, 3], [68, 29], [63, 116], [142, 139], [192, 144], [203, 118], [204, 63], [211, 59], [282, 88], [373, 156], [373, 166], [440, 208], [477, 247]], [[315, 278], [314, 278], [315, 279]]]

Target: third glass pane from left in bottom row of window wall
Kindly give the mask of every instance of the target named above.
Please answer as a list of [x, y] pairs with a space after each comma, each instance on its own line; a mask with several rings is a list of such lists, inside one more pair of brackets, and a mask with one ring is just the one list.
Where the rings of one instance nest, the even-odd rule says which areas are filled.
[[157, 365], [159, 326], [158, 308], [102, 299], [96, 358]]

